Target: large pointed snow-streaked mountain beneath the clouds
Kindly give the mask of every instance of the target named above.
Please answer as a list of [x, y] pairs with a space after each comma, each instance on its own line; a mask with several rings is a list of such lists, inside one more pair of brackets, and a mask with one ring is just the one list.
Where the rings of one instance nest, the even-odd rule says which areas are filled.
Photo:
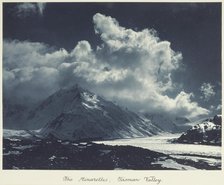
[[162, 132], [149, 119], [122, 108], [78, 85], [60, 89], [24, 119], [26, 129], [68, 140], [130, 138]]

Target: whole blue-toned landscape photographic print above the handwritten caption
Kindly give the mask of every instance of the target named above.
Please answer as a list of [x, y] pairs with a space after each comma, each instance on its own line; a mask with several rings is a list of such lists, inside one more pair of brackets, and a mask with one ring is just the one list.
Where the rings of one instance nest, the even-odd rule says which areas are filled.
[[4, 170], [221, 170], [221, 3], [4, 2]]

